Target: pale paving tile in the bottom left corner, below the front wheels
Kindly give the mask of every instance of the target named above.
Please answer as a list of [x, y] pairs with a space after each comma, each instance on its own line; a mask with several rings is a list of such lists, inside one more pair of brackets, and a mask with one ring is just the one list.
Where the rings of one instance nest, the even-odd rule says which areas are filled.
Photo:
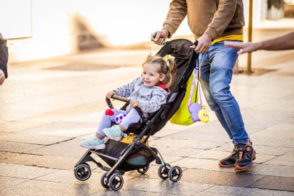
[[17, 187], [1, 190], [1, 194], [13, 193], [14, 195], [90, 195], [104, 190], [97, 182], [89, 183], [55, 183], [43, 180], [30, 180]]

